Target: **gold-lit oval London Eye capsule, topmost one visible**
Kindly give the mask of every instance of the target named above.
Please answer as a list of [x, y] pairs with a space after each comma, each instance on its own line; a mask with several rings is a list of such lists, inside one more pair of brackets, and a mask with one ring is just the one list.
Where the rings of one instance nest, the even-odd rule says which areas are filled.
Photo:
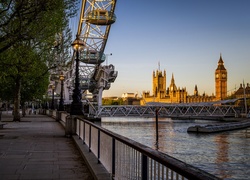
[[90, 11], [86, 17], [86, 22], [94, 25], [111, 25], [116, 21], [114, 12], [95, 9]]

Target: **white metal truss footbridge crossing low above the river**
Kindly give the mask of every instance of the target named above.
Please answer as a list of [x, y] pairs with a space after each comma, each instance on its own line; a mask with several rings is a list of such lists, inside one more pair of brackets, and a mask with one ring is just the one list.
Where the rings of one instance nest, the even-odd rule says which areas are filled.
[[207, 106], [207, 105], [162, 105], [162, 106], [102, 106], [95, 114], [97, 117], [115, 116], [140, 116], [154, 117], [155, 109], [158, 109], [159, 116], [210, 116], [210, 117], [236, 117], [239, 114], [234, 106]]

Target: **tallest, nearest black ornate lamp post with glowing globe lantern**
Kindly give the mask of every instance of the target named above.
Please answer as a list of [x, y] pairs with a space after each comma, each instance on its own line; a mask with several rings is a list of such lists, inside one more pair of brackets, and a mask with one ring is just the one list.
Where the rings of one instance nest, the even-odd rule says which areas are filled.
[[70, 114], [71, 115], [82, 115], [82, 95], [79, 83], [79, 51], [83, 48], [84, 42], [76, 36], [76, 39], [72, 43], [72, 47], [76, 52], [76, 69], [75, 69], [75, 89], [73, 90], [73, 101], [71, 103]]

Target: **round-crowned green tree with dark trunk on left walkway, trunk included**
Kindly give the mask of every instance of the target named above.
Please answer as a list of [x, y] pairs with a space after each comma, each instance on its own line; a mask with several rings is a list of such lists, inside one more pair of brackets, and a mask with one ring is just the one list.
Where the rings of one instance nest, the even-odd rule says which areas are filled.
[[[41, 80], [47, 78], [45, 73], [47, 71], [46, 64], [41, 60], [41, 57], [34, 51], [32, 51], [29, 46], [14, 46], [14, 48], [8, 49], [7, 53], [1, 53], [1, 66], [0, 70], [3, 73], [2, 85], [5, 85], [5, 97], [2, 99], [13, 98], [14, 100], [14, 119], [15, 121], [20, 120], [20, 100], [21, 92], [25, 95], [30, 94], [30, 96], [35, 95], [35, 90], [32, 89], [32, 85], [35, 88], [40, 88], [38, 86], [41, 82], [46, 82]], [[41, 72], [43, 71], [43, 72]], [[38, 82], [40, 81], [40, 82]], [[36, 84], [34, 84], [36, 82]], [[25, 85], [22, 88], [22, 84]], [[48, 83], [47, 83], [48, 84]], [[43, 83], [43, 86], [47, 86]], [[26, 88], [25, 88], [26, 87]], [[25, 88], [25, 89], [24, 89]], [[7, 93], [7, 92], [8, 93]], [[27, 98], [27, 95], [24, 96]]]

